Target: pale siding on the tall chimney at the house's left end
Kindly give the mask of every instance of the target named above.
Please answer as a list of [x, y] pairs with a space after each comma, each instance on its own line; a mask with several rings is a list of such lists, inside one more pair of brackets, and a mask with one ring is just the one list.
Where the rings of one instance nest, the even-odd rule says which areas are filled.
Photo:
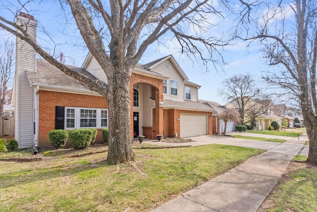
[[[36, 24], [36, 21], [29, 21], [28, 32], [34, 37]], [[18, 38], [16, 49], [15, 137], [19, 148], [27, 148], [33, 146], [33, 88], [30, 87], [25, 71], [36, 70], [36, 53], [29, 44]]]

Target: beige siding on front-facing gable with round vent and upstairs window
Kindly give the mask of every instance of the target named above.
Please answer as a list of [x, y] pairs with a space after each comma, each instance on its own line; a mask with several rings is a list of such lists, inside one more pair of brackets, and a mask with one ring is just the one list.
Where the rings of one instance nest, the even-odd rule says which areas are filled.
[[[169, 68], [167, 68], [166, 62], [169, 62], [171, 64]], [[169, 59], [167, 59], [161, 62], [159, 65], [155, 66], [152, 70], [169, 77], [169, 79], [166, 80], [167, 91], [166, 94], [164, 94], [164, 99], [177, 102], [184, 102], [184, 79], [179, 74], [173, 63]], [[170, 94], [170, 80], [177, 81], [177, 96]]]

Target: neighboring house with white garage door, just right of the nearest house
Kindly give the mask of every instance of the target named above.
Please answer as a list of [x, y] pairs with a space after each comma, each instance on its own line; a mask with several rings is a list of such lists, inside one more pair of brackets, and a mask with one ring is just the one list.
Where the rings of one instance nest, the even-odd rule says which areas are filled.
[[[217, 117], [217, 114], [220, 114], [227, 107], [221, 106], [220, 104], [215, 103], [215, 102], [210, 102], [210, 101], [205, 101], [205, 100], [199, 100], [199, 102], [201, 102], [207, 106], [210, 106], [214, 110], [212, 113], [212, 134], [222, 134], [222, 131], [224, 129], [224, 121], [219, 120]], [[234, 132], [235, 126], [236, 126], [236, 123], [234, 121], [228, 121], [226, 132]]]

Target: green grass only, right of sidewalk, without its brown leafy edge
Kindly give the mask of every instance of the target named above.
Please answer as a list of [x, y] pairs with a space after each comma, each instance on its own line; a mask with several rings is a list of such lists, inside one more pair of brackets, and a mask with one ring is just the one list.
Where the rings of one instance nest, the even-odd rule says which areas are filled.
[[316, 197], [317, 169], [300, 168], [289, 174], [289, 181], [280, 185], [278, 191], [271, 195], [270, 200], [274, 202], [274, 206], [268, 211], [316, 212]]

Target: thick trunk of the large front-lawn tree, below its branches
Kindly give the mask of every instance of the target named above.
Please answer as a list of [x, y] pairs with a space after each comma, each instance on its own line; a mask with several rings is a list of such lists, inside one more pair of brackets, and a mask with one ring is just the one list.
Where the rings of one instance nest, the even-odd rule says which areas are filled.
[[[130, 136], [130, 76], [124, 70], [108, 78], [109, 146], [107, 161], [112, 164], [134, 160]], [[124, 127], [122, 127], [124, 126]]]

